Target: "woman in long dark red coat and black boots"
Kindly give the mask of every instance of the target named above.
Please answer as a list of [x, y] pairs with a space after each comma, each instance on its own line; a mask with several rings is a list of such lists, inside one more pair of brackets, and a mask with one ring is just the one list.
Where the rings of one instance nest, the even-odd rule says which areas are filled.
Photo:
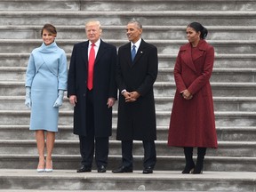
[[[214, 49], [206, 43], [207, 29], [192, 22], [187, 27], [188, 44], [180, 47], [174, 67], [176, 93], [172, 106], [168, 145], [184, 148], [182, 173], [202, 173], [206, 148], [217, 148], [217, 135], [209, 79]], [[197, 147], [196, 165], [193, 148]]]

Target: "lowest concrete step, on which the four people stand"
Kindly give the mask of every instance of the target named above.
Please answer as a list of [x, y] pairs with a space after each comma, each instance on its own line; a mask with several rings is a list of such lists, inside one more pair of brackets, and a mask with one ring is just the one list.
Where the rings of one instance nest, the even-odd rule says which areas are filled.
[[[37, 173], [31, 169], [2, 169], [1, 182], [4, 192], [49, 191], [254, 191], [254, 172], [204, 172], [203, 174], [181, 174], [173, 171], [155, 171], [145, 175], [140, 171], [124, 174], [76, 173], [56, 170]], [[48, 184], [45, 187], [45, 183]], [[1, 191], [1, 190], [0, 190]]]

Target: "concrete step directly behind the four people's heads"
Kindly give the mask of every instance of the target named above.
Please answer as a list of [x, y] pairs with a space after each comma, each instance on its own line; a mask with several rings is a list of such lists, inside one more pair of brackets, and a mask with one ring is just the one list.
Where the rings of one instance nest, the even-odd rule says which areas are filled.
[[[43, 26], [0, 26], [0, 38], [6, 39], [41, 39]], [[55, 26], [58, 39], [77, 39], [85, 37], [84, 26]], [[125, 26], [102, 26], [102, 39], [124, 39]], [[144, 39], [185, 39], [185, 26], [143, 26]], [[208, 29], [208, 40], [254, 40], [255, 26], [205, 26]], [[241, 36], [243, 34], [243, 36]]]

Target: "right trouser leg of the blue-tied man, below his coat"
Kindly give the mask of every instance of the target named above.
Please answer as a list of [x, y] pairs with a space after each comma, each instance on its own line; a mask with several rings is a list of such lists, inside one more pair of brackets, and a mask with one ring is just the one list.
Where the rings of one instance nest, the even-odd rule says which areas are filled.
[[144, 168], [154, 169], [156, 164], [156, 145], [154, 140], [143, 140], [144, 148]]

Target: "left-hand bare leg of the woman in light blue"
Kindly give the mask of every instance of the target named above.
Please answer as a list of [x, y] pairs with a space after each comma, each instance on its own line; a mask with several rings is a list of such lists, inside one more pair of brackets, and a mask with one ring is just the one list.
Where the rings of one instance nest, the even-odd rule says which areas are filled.
[[39, 155], [37, 169], [44, 169], [44, 130], [36, 131], [36, 145]]

